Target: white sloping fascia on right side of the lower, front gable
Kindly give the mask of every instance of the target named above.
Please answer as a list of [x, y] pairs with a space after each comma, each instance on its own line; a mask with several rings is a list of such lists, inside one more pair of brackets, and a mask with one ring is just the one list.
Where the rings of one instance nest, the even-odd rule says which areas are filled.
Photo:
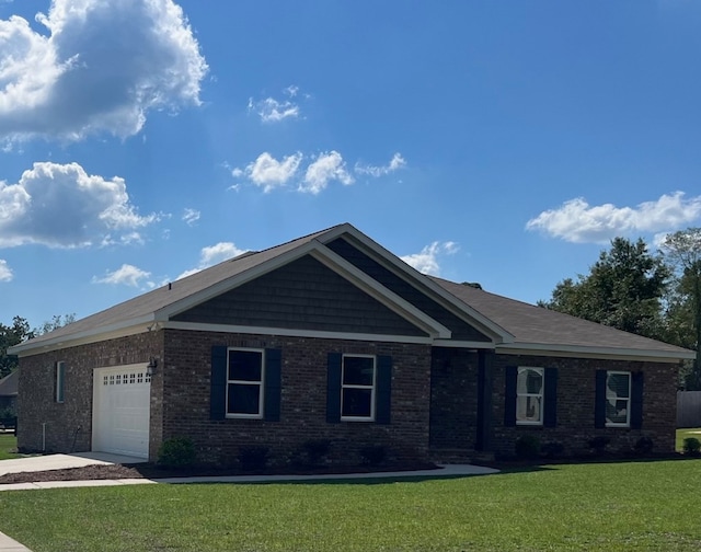
[[440, 322], [390, 291], [326, 246], [320, 245], [311, 252], [311, 256], [432, 337], [449, 340], [452, 336], [452, 332]]

